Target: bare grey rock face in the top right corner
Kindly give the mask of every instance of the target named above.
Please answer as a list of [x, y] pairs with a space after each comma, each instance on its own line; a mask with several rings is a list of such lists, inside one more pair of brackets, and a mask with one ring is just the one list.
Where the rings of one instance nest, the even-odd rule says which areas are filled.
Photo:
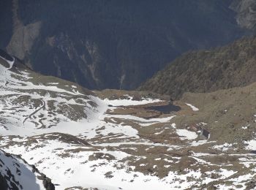
[[250, 30], [256, 29], [256, 1], [236, 0], [233, 1], [230, 8], [237, 12], [236, 20], [239, 26]]

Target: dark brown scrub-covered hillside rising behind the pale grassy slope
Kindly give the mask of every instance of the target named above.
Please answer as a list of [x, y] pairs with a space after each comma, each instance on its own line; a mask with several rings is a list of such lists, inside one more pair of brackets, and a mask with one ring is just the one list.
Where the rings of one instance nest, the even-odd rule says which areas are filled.
[[185, 53], [146, 81], [140, 90], [169, 94], [208, 92], [246, 86], [256, 81], [256, 37], [213, 50]]

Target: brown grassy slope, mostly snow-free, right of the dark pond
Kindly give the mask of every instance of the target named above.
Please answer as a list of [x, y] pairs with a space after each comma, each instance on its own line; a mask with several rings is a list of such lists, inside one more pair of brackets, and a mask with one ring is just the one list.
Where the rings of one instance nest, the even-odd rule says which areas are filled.
[[186, 93], [178, 102], [191, 103], [199, 111], [176, 117], [176, 124], [208, 123], [205, 128], [211, 132], [211, 140], [242, 143], [255, 136], [255, 96], [256, 83], [211, 93]]

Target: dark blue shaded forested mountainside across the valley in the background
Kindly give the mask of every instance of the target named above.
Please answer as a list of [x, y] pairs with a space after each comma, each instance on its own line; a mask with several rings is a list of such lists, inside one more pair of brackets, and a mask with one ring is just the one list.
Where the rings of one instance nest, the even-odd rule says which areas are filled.
[[181, 53], [245, 33], [230, 1], [4, 1], [1, 47], [86, 88], [137, 88]]

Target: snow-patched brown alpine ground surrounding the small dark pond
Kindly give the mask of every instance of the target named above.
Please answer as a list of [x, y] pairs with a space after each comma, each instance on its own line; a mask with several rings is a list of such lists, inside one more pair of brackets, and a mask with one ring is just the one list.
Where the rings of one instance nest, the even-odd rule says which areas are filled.
[[[211, 123], [193, 99], [176, 102], [176, 110], [154, 94], [91, 92], [39, 75], [15, 58], [0, 57], [0, 72], [0, 148], [34, 164], [56, 189], [256, 186], [255, 141], [244, 146], [209, 135], [214, 129], [206, 130]], [[6, 172], [3, 167], [1, 175]], [[16, 178], [27, 181], [25, 172]]]

